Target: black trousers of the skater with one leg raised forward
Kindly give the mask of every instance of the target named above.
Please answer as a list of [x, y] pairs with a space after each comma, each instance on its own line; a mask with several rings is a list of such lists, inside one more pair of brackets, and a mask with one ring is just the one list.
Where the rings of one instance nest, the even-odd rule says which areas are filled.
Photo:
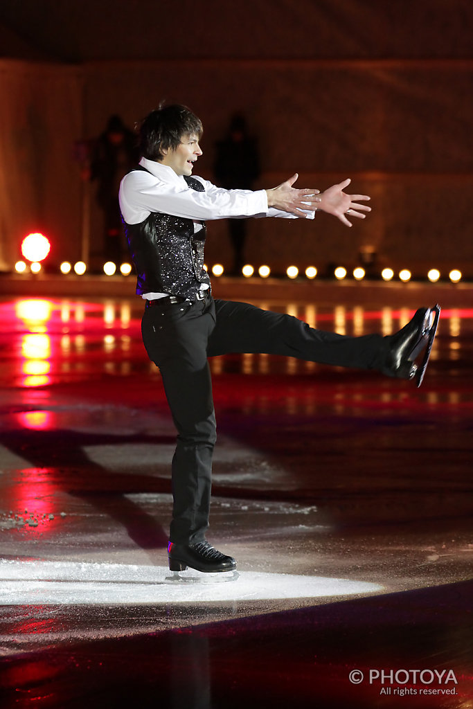
[[265, 352], [340, 367], [381, 369], [387, 342], [381, 335], [345, 337], [310, 328], [281, 313], [248, 303], [162, 303], [145, 308], [143, 342], [160, 368], [177, 446], [172, 459], [173, 512], [169, 540], [204, 540], [216, 442], [207, 358], [229, 352]]

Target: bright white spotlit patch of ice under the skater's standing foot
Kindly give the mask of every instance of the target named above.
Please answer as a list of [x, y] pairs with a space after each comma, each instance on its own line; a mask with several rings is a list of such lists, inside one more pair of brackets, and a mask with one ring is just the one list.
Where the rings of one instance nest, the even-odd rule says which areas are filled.
[[[191, 578], [197, 572], [191, 571]], [[0, 561], [0, 605], [208, 603], [352, 596], [383, 586], [323, 576], [240, 571], [235, 584], [169, 581], [166, 566]], [[184, 592], [185, 586], [185, 592]]]

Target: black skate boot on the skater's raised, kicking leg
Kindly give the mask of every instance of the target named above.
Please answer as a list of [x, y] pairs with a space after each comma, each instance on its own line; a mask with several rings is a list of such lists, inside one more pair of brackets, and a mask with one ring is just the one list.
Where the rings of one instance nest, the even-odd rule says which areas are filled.
[[[417, 386], [421, 386], [439, 318], [440, 306], [419, 308], [399, 333], [389, 335], [389, 350], [381, 370], [383, 374], [399, 379], [414, 379]], [[423, 358], [417, 364], [416, 358], [423, 350]]]

